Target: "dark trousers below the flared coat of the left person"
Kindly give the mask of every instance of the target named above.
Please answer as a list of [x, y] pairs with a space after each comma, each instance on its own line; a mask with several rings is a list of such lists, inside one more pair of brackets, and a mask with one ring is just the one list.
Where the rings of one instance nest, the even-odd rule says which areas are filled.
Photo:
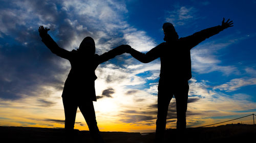
[[65, 131], [67, 137], [66, 141], [72, 140], [73, 138], [76, 111], [77, 107], [79, 107], [84, 119], [86, 120], [86, 123], [90, 130], [90, 134], [94, 141], [104, 142], [97, 126], [93, 101], [74, 101], [73, 99], [66, 97], [62, 98], [62, 101], [65, 110]]

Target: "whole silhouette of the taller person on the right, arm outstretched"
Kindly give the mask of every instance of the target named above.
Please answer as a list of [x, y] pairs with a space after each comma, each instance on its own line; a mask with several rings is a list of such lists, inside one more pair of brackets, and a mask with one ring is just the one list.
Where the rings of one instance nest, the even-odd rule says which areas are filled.
[[182, 135], [186, 128], [188, 80], [191, 78], [190, 49], [205, 39], [231, 27], [229, 19], [222, 24], [207, 28], [191, 36], [179, 38], [172, 23], [163, 24], [164, 41], [146, 54], [131, 48], [128, 53], [142, 63], [149, 63], [160, 57], [161, 69], [158, 84], [158, 113], [155, 142], [164, 137], [168, 106], [173, 95], [176, 99], [177, 129]]

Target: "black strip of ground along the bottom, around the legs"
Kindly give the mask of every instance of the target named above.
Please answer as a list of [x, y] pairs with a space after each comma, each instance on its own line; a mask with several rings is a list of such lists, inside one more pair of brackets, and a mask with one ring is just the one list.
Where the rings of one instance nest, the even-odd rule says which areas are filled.
[[[74, 142], [93, 142], [89, 131], [77, 131]], [[0, 126], [0, 142], [63, 142], [63, 129]], [[153, 143], [155, 133], [101, 132], [106, 143]], [[166, 131], [166, 142], [178, 142], [176, 129]], [[225, 125], [187, 128], [185, 142], [256, 142], [256, 126]], [[5, 141], [6, 140], [6, 141]]]

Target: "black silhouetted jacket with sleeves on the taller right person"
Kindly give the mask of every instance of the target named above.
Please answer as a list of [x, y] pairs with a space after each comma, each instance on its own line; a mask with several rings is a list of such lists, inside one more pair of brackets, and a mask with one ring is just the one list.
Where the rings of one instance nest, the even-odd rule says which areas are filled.
[[157, 58], [161, 60], [160, 79], [167, 81], [188, 80], [191, 78], [190, 49], [205, 39], [218, 34], [223, 28], [207, 28], [191, 36], [179, 38], [171, 43], [163, 42], [147, 53], [135, 49], [131, 55], [142, 63], [149, 63]]

